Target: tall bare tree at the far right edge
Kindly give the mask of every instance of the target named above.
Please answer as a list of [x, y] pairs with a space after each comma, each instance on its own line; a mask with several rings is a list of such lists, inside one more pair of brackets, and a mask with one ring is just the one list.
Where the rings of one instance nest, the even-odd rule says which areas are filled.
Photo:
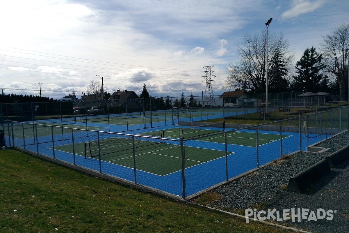
[[322, 36], [320, 43], [323, 63], [328, 72], [335, 75], [339, 84], [340, 100], [345, 100], [347, 86], [346, 58], [349, 49], [349, 24], [342, 23], [339, 28], [334, 28], [331, 34]]

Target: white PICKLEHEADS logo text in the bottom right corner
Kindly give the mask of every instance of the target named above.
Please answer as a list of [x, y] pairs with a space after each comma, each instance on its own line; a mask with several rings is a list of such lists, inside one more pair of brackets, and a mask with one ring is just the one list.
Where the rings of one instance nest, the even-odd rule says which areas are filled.
[[294, 222], [296, 219], [300, 222], [302, 219], [307, 221], [317, 221], [319, 219], [326, 219], [328, 221], [333, 219], [333, 213], [337, 213], [337, 211], [324, 209], [317, 209], [316, 211], [310, 211], [310, 209], [301, 209], [301, 208], [291, 208], [285, 209], [282, 211], [277, 211], [276, 209], [268, 211], [260, 210], [257, 212], [257, 209], [245, 209], [245, 218], [246, 223], [249, 223], [250, 217], [253, 216], [253, 220], [261, 220], [264, 221], [266, 219], [273, 219], [278, 222], [283, 220], [291, 220]]

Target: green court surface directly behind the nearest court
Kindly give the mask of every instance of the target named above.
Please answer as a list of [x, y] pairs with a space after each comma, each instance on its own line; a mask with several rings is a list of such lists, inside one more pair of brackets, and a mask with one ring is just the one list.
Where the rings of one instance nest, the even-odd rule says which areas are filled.
[[[180, 130], [181, 128], [171, 128], [163, 130], [164, 136], [168, 138], [179, 138], [182, 137], [192, 138], [205, 134], [222, 132], [222, 134], [215, 134], [207, 137], [198, 138], [195, 140], [200, 141], [210, 141], [214, 143], [224, 143], [224, 133], [222, 130], [215, 129], [193, 129], [193, 128], [183, 128], [183, 132]], [[148, 134], [153, 134], [160, 131], [151, 131]], [[146, 133], [144, 133], [146, 134]], [[179, 136], [180, 135], [180, 136]], [[290, 137], [290, 135], [282, 134], [282, 138]], [[272, 133], [258, 133], [258, 145], [263, 145], [270, 143], [272, 141], [280, 140], [280, 134], [272, 134]], [[231, 131], [227, 132], [227, 143], [241, 146], [257, 146], [257, 134], [253, 132], [243, 132], [243, 131]]]

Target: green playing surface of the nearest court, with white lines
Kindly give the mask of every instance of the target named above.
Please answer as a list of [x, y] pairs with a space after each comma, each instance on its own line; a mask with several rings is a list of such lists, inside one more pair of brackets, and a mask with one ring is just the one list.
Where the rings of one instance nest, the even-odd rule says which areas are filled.
[[[128, 141], [126, 143], [126, 141]], [[98, 144], [96, 141], [88, 143], [76, 143], [75, 153], [86, 155], [86, 159], [98, 159]], [[121, 166], [133, 168], [134, 156], [132, 139], [107, 138], [100, 141], [101, 160], [115, 163]], [[96, 146], [97, 145], [97, 146]], [[55, 146], [55, 150], [73, 153], [73, 146]], [[86, 150], [85, 150], [86, 148]], [[136, 169], [157, 175], [166, 175], [181, 169], [180, 145], [135, 140]], [[228, 155], [233, 152], [228, 152]], [[224, 151], [204, 149], [198, 147], [185, 147], [185, 168], [192, 167], [210, 160], [225, 156]]]

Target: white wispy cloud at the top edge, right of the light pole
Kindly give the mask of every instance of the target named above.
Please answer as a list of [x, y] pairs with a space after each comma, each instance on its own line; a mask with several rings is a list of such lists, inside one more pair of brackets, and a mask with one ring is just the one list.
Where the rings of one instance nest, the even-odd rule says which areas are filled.
[[282, 13], [282, 19], [289, 19], [297, 17], [298, 15], [313, 12], [314, 10], [320, 8], [324, 5], [324, 0], [316, 1], [305, 1], [305, 0], [293, 0], [292, 7], [289, 10], [286, 10]]

